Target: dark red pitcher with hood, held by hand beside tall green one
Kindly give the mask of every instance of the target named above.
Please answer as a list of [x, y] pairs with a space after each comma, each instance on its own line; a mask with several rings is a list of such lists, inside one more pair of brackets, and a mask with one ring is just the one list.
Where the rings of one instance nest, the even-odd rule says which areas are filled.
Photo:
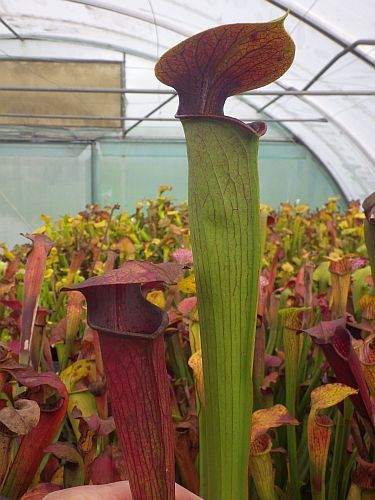
[[182, 265], [128, 261], [69, 288], [87, 301], [99, 333], [116, 429], [135, 500], [174, 499], [174, 435], [163, 332], [165, 311], [149, 289], [173, 284]]

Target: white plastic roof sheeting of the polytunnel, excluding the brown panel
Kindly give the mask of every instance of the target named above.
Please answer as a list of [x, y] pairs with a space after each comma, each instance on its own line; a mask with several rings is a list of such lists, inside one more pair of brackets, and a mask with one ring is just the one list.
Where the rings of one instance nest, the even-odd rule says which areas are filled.
[[[357, 55], [348, 52], [339, 57], [309, 90], [375, 90], [375, 45], [371, 45], [375, 39], [373, 0], [355, 4], [352, 0], [0, 0], [2, 19], [23, 39], [18, 40], [1, 26], [0, 55], [4, 58], [97, 56], [102, 60], [120, 60], [119, 55], [126, 52], [151, 62], [167, 48], [203, 29], [279, 17], [283, 10], [272, 3], [291, 9], [286, 28], [296, 42], [297, 52], [290, 70], [265, 90], [304, 89], [345, 46], [359, 39], [362, 43], [355, 49]], [[66, 44], [65, 53], [61, 44]], [[132, 82], [133, 87], [141, 88], [147, 82], [152, 88], [162, 88], [153, 77], [152, 66], [153, 63], [145, 64], [144, 75], [148, 76], [140, 79], [136, 77], [137, 71], [132, 78], [129, 67], [126, 85], [129, 87]], [[162, 97], [165, 96], [129, 96], [128, 112], [144, 115], [162, 102]], [[285, 129], [325, 164], [348, 198], [363, 198], [375, 190], [375, 141], [371, 133], [374, 96], [282, 97], [275, 102], [273, 97], [254, 96], [246, 100], [252, 106], [254, 118], [325, 119], [326, 123], [283, 123]], [[244, 115], [250, 110], [245, 101], [241, 109], [237, 104], [226, 109], [233, 109], [235, 116], [246, 118]], [[257, 114], [264, 105], [267, 105], [264, 112]], [[174, 100], [155, 116], [171, 117], [175, 109]], [[147, 126], [151, 128], [147, 123], [139, 131]], [[177, 125], [160, 123], [158, 129], [168, 134], [176, 130]], [[131, 132], [136, 133], [136, 129]]]

